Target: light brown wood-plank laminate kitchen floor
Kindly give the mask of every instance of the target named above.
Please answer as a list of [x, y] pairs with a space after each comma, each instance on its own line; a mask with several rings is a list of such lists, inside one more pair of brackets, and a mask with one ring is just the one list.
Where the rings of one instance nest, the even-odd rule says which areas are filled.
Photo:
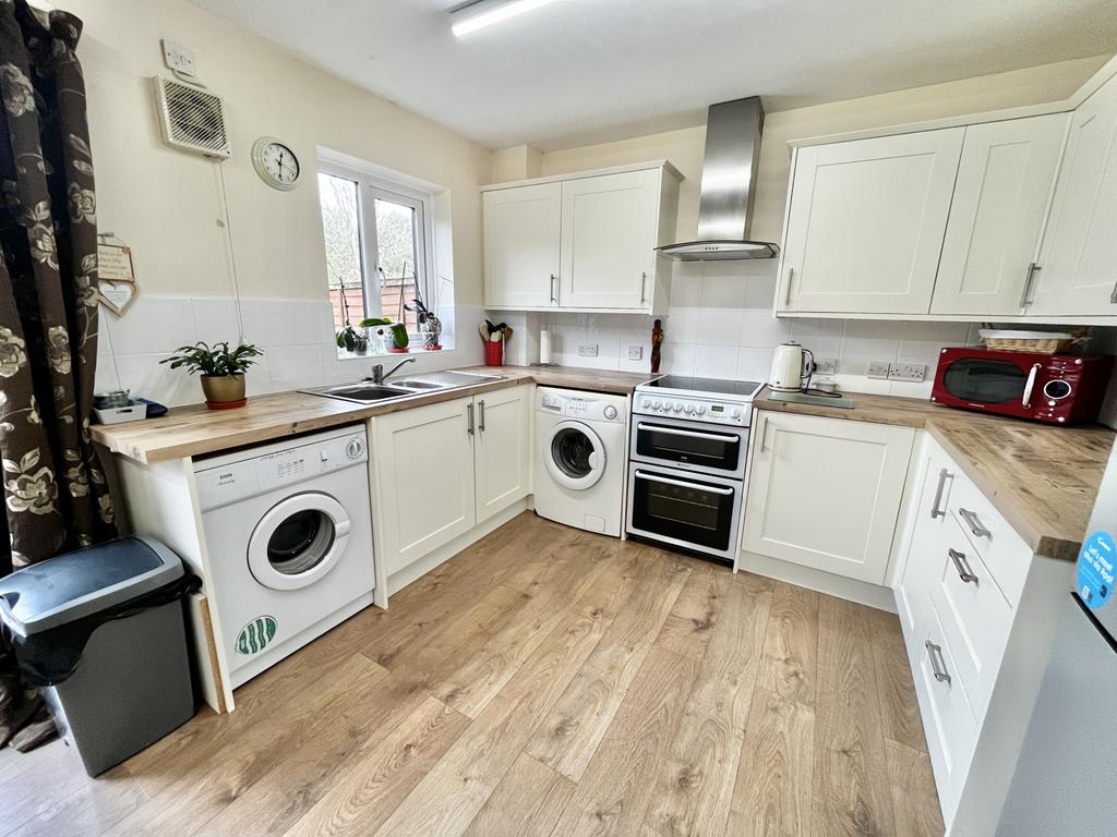
[[521, 514], [0, 835], [942, 835], [899, 623]]

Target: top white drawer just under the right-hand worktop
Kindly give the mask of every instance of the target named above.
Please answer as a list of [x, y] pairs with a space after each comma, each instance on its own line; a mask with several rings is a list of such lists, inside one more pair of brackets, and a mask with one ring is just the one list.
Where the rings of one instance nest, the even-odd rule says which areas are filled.
[[1032, 550], [965, 474], [958, 474], [955, 483], [947, 508], [962, 527], [971, 551], [981, 558], [1015, 607], [1031, 566]]

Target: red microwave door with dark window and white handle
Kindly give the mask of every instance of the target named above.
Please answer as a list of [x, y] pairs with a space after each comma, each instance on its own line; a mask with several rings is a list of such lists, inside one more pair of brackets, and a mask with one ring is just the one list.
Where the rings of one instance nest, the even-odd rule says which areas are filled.
[[1042, 356], [947, 348], [938, 360], [932, 401], [947, 406], [1031, 416], [1046, 378]]

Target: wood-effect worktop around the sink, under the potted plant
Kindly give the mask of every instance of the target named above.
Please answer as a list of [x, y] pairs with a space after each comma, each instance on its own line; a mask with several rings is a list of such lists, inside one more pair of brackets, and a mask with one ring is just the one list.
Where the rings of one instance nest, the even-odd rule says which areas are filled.
[[269, 442], [295, 433], [324, 430], [374, 415], [462, 398], [532, 381], [543, 386], [627, 395], [650, 375], [563, 366], [472, 366], [458, 372], [500, 375], [474, 386], [423, 393], [409, 398], [354, 404], [321, 395], [286, 392], [257, 395], [237, 410], [208, 410], [204, 404], [172, 407], [165, 416], [127, 424], [97, 424], [93, 440], [113, 453], [137, 462], [163, 462]]

